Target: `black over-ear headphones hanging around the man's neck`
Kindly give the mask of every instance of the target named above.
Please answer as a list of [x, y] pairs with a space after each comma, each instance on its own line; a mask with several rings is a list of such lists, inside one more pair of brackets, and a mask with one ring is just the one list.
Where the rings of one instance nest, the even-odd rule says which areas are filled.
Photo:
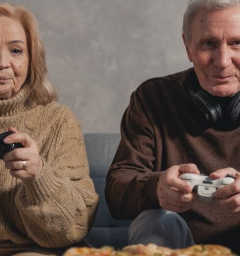
[[232, 125], [240, 125], [240, 91], [233, 97], [224, 99], [209, 94], [200, 85], [197, 86], [198, 90], [196, 92], [190, 84], [188, 84], [188, 87], [191, 103], [203, 114], [207, 123], [213, 125], [224, 117]]

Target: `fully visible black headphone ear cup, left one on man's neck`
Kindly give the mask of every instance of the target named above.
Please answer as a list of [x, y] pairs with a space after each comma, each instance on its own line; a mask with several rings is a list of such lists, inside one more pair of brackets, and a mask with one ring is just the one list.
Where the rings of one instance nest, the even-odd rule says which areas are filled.
[[215, 124], [222, 117], [220, 104], [206, 92], [191, 93], [190, 100], [209, 124]]

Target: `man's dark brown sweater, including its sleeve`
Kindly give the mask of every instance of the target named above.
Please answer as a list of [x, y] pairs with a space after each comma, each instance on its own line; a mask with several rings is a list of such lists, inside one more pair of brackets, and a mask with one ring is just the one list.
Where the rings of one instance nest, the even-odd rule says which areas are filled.
[[[192, 111], [186, 85], [192, 69], [144, 82], [131, 96], [121, 122], [121, 141], [106, 181], [106, 200], [116, 218], [134, 219], [158, 208], [160, 171], [195, 163], [208, 175], [219, 168], [240, 171], [240, 128], [209, 128]], [[160, 178], [161, 179], [161, 178]], [[221, 243], [240, 253], [240, 213], [214, 203], [195, 202], [181, 214], [196, 243]]]

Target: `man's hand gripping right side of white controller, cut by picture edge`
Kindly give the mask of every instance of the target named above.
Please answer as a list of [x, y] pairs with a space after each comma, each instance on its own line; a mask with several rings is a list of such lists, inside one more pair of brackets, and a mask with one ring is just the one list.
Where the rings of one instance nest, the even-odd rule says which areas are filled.
[[210, 177], [219, 179], [226, 177], [227, 174], [232, 175], [235, 181], [225, 187], [218, 188], [215, 197], [226, 212], [240, 214], [240, 173], [233, 168], [224, 168], [211, 173]]

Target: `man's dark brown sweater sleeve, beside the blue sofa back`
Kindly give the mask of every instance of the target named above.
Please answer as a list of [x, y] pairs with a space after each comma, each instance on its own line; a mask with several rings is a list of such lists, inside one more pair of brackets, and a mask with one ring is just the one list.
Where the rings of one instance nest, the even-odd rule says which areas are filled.
[[121, 140], [108, 171], [105, 197], [113, 217], [134, 219], [158, 208], [155, 135], [138, 91], [131, 96], [121, 121]]

